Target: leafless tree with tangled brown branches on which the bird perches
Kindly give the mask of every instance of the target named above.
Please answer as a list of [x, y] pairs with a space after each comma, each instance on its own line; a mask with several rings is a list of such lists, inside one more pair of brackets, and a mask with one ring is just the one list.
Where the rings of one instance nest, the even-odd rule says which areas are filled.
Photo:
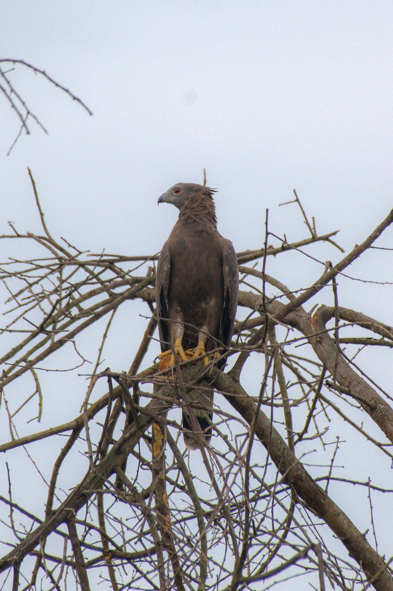
[[[320, 277], [293, 293], [266, 273], [268, 257], [312, 256], [317, 242], [339, 248], [336, 232], [317, 234], [295, 193], [309, 236], [289, 243], [268, 228], [266, 216], [264, 248], [238, 253], [238, 322], [230, 350], [220, 351], [230, 369], [184, 362], [159, 371], [152, 353], [158, 351], [157, 255], [91, 255], [57, 241], [31, 181], [42, 233], [21, 234], [10, 224], [11, 233], [1, 236], [11, 253], [0, 267], [8, 293], [1, 333], [12, 339], [1, 359], [1, 414], [8, 424], [0, 445], [6, 459], [2, 588], [12, 580], [15, 590], [66, 584], [87, 590], [107, 580], [105, 588], [114, 590], [234, 591], [279, 589], [288, 580], [294, 588], [304, 577], [303, 588], [310, 582], [320, 590], [393, 589], [393, 557], [378, 553], [381, 521], [374, 518], [376, 495], [393, 491], [371, 482], [367, 463], [359, 480], [338, 478], [335, 463], [345, 445], [343, 426], [346, 439], [369, 442], [381, 466], [393, 457], [392, 397], [355, 361], [364, 348], [391, 349], [393, 329], [340, 306], [336, 283], [392, 223], [393, 211], [352, 252], [326, 262]], [[27, 252], [34, 244], [41, 255], [12, 258], [15, 241]], [[304, 304], [323, 288], [327, 294], [329, 285], [334, 305], [307, 312]], [[127, 300], [136, 302], [135, 314], [144, 310], [145, 333], [133, 333], [140, 344], [127, 372], [102, 369], [111, 324]], [[90, 369], [78, 343], [104, 318]], [[132, 331], [132, 317], [123, 322]], [[72, 420], [40, 430], [43, 408], [52, 410], [41, 375], [61, 369], [59, 350], [63, 359], [79, 360], [66, 369], [84, 372], [73, 382], [83, 404], [71, 407]], [[213, 437], [205, 446], [189, 407], [200, 449], [188, 452], [179, 407], [189, 405], [189, 392], [205, 372], [220, 393]], [[45, 447], [57, 456], [49, 477], [37, 451]], [[326, 450], [332, 450], [327, 463]], [[312, 452], [317, 469], [307, 465]], [[29, 494], [28, 466], [44, 482], [46, 493], [38, 498]], [[338, 482], [336, 497], [368, 502], [369, 514], [362, 515], [368, 532], [330, 496]], [[24, 502], [15, 501], [21, 495]], [[391, 513], [384, 519], [391, 528]]]

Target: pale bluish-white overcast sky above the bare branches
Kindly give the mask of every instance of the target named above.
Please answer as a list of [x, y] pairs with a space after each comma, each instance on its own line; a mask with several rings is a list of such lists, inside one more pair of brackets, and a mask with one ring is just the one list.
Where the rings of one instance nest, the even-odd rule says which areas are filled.
[[[346, 252], [393, 205], [391, 1], [14, 0], [1, 13], [0, 57], [45, 69], [94, 115], [41, 76], [9, 74], [49, 135], [30, 122], [7, 157], [19, 124], [0, 96], [0, 233], [8, 220], [40, 231], [27, 167], [51, 233], [91, 252], [158, 252], [177, 216], [158, 197], [201, 183], [204, 167], [237, 251], [262, 245], [266, 208], [272, 232], [307, 237], [296, 207], [279, 207], [293, 189]], [[290, 288], [322, 273], [295, 260], [268, 259], [267, 271]], [[389, 281], [391, 268], [389, 252], [373, 251], [350, 274]], [[393, 324], [392, 290], [340, 282], [340, 303]]]

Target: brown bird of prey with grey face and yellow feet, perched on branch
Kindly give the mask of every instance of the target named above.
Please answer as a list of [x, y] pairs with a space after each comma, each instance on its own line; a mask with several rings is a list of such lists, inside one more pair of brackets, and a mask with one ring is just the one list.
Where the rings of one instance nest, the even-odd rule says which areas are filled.
[[[186, 361], [212, 349], [228, 348], [234, 329], [238, 297], [238, 265], [232, 242], [217, 230], [214, 189], [193, 183], [177, 183], [163, 193], [158, 203], [172, 203], [179, 217], [163, 245], [157, 265], [156, 311], [161, 358], [171, 356]], [[225, 358], [217, 362], [225, 366]], [[192, 393], [194, 413], [205, 440], [211, 439], [214, 390], [202, 381]], [[184, 440], [196, 449], [191, 422], [183, 413]]]

